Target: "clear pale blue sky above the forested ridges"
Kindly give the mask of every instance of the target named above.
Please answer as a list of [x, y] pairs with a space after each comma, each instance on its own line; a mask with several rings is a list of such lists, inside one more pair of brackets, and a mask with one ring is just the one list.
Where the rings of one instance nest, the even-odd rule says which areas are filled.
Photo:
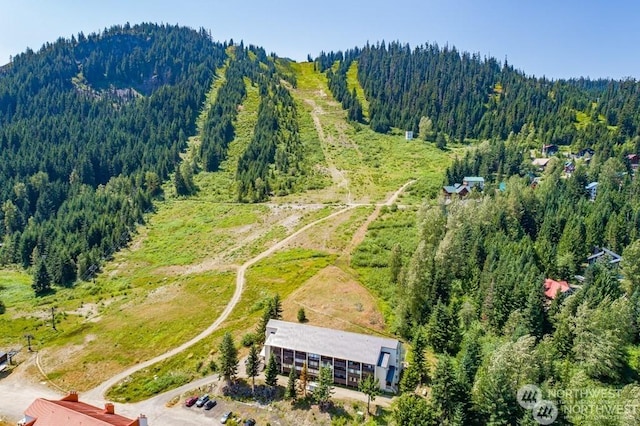
[[0, 0], [0, 64], [81, 31], [157, 22], [297, 61], [384, 40], [448, 44], [537, 77], [640, 79], [639, 17], [636, 0]]

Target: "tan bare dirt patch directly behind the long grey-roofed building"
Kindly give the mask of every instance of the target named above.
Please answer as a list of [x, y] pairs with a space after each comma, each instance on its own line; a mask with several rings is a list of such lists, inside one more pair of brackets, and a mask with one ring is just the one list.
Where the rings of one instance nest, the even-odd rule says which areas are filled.
[[283, 302], [283, 319], [297, 321], [304, 308], [310, 325], [358, 333], [384, 332], [384, 320], [374, 297], [351, 275], [331, 265]]

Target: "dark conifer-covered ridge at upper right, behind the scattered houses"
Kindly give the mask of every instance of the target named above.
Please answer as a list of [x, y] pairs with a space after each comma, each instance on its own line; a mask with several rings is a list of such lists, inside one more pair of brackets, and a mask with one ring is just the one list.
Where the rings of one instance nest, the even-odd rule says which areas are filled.
[[[417, 134], [421, 119], [428, 119], [434, 133], [455, 140], [504, 140], [529, 125], [541, 144], [610, 150], [610, 145], [640, 130], [640, 84], [634, 80], [528, 77], [506, 61], [500, 64], [436, 44], [412, 50], [382, 42], [345, 53], [322, 53], [316, 59], [321, 71], [336, 61], [336, 74], [343, 76], [349, 64], [357, 62], [358, 79], [370, 103], [370, 124], [379, 132], [394, 126]], [[342, 101], [346, 84], [331, 87]], [[576, 125], [579, 114], [584, 115], [582, 126]]]

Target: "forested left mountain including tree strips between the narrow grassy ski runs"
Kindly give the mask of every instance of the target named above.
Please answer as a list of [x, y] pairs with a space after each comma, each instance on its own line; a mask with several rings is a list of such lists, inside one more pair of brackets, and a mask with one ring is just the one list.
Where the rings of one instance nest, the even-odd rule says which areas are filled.
[[[81, 33], [16, 56], [0, 73], [0, 262], [34, 267], [38, 293], [90, 278], [127, 243], [172, 171], [177, 194], [188, 195], [193, 173], [219, 169], [246, 84], [259, 87], [261, 103], [237, 165], [238, 200], [304, 189], [311, 165], [286, 68], [262, 48], [155, 24]], [[216, 70], [224, 83], [196, 164], [176, 167]]]

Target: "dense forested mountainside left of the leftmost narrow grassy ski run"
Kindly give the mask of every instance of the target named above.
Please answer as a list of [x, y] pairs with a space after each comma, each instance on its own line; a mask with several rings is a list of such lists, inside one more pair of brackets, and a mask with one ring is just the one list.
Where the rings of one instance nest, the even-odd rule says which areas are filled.
[[124, 245], [194, 133], [225, 48], [144, 24], [13, 58], [0, 74], [0, 260], [37, 265], [46, 291]]

